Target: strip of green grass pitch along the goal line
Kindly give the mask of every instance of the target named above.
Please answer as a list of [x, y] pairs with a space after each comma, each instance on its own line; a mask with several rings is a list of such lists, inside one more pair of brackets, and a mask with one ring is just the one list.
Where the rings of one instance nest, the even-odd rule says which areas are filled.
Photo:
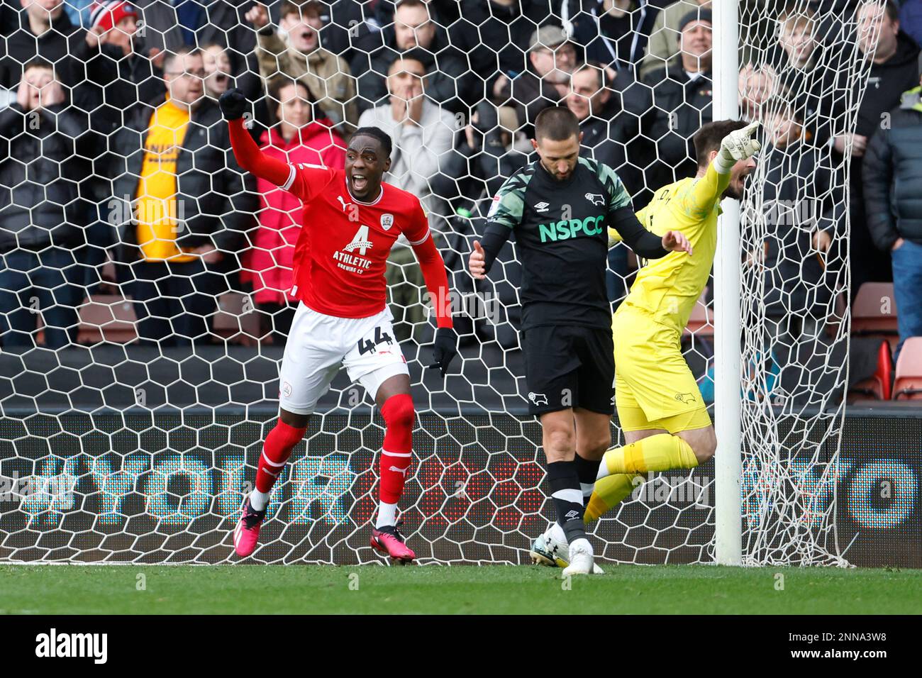
[[560, 573], [525, 565], [3, 565], [0, 613], [240, 614], [256, 601], [260, 611], [295, 614], [922, 611], [922, 570], [608, 565], [603, 576], [573, 577], [569, 589]]

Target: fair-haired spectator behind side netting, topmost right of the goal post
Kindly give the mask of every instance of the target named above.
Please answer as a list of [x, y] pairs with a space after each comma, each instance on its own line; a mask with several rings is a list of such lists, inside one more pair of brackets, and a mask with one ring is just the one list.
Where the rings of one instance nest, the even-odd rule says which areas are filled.
[[804, 142], [821, 148], [829, 141], [832, 120], [844, 106], [843, 97], [835, 95], [835, 67], [827, 48], [817, 40], [819, 24], [812, 10], [784, 10], [778, 25], [778, 44], [769, 61], [779, 84], [795, 98]]

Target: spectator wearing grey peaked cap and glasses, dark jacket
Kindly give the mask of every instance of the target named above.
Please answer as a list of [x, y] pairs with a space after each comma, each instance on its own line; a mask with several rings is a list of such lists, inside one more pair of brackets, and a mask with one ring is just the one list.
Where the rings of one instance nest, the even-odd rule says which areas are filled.
[[560, 26], [545, 26], [532, 33], [526, 71], [510, 81], [498, 99], [499, 103], [512, 99], [528, 137], [534, 137], [538, 113], [562, 103], [570, 93], [570, 76], [578, 63], [576, 45]]

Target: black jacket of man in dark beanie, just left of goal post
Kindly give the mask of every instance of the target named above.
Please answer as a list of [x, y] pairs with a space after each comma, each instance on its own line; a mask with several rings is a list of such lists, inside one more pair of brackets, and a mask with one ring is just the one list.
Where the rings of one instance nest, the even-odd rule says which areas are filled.
[[681, 64], [653, 71], [644, 83], [653, 88], [654, 108], [644, 128], [656, 143], [658, 162], [648, 177], [656, 190], [697, 172], [691, 137], [712, 120], [714, 86], [710, 71], [692, 80]]

